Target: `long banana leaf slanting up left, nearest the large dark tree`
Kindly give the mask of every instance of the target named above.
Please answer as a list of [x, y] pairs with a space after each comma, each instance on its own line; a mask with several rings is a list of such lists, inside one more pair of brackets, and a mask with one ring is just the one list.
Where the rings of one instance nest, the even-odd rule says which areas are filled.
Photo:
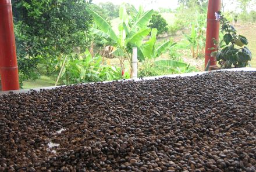
[[91, 12], [91, 14], [94, 17], [95, 23], [98, 25], [98, 27], [104, 31], [106, 34], [109, 35], [113, 41], [118, 42], [118, 36], [116, 36], [115, 32], [112, 30], [112, 27], [106, 20], [104, 20], [101, 16], [99, 16], [98, 13], [94, 12], [94, 10], [91, 10], [88, 8], [88, 10]]

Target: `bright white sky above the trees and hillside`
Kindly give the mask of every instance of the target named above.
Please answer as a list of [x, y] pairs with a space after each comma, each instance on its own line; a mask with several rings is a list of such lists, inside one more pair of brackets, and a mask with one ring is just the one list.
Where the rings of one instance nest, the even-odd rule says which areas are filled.
[[[152, 2], [150, 0], [93, 0], [93, 3], [98, 4], [99, 2], [112, 2], [113, 4], [120, 5], [123, 2], [133, 4], [136, 8], [138, 6], [143, 5], [145, 10], [154, 9], [157, 10], [158, 8], [166, 8], [166, 9], [176, 9], [178, 6], [177, 0], [157, 0], [157, 2]], [[237, 11], [238, 3], [236, 0], [223, 0], [225, 5], [225, 11]], [[250, 10], [256, 10], [256, 1], [253, 0], [251, 5], [248, 8]], [[238, 10], [240, 12], [240, 10]]]

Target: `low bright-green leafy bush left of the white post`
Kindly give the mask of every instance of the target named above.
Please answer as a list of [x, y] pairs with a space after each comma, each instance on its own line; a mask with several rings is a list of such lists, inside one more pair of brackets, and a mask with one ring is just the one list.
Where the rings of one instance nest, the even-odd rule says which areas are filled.
[[[56, 73], [61, 71], [63, 61], [56, 66]], [[73, 83], [98, 82], [105, 80], [122, 79], [120, 67], [102, 65], [102, 57], [91, 57], [88, 50], [80, 56], [73, 55], [67, 58], [63, 71], [61, 72], [61, 83], [65, 85]], [[126, 78], [129, 77], [125, 74]]]

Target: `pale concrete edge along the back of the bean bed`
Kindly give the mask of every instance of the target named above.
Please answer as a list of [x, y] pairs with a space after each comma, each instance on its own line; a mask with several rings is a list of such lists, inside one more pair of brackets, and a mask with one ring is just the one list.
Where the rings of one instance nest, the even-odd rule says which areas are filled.
[[[218, 72], [218, 71], [256, 71], [256, 68], [233, 68], [233, 69], [221, 69], [221, 70], [216, 70], [216, 71], [204, 71], [204, 72], [191, 72], [191, 73], [186, 73], [186, 74], [172, 74], [172, 75], [162, 75], [162, 76], [152, 76], [152, 77], [145, 77], [145, 78], [137, 78], [137, 79], [125, 79], [125, 80], [118, 80], [118, 81], [128, 81], [128, 80], [134, 80], [134, 81], [140, 81], [140, 80], [154, 80], [154, 79], [158, 79], [158, 78], [175, 78], [177, 76], [181, 76], [181, 77], [186, 77], [186, 76], [195, 76], [195, 75], [202, 75], [202, 74], [207, 74], [209, 72]], [[116, 80], [111, 80], [111, 81], [104, 81], [102, 83], [108, 83], [108, 82], [114, 82]], [[99, 83], [99, 82], [90, 82], [90, 83], [80, 83], [82, 85], [86, 85], [86, 84], [93, 84], [93, 83]], [[49, 90], [49, 89], [55, 89], [58, 87], [65, 87], [65, 86], [72, 86], [72, 85], [61, 85], [61, 86], [50, 86], [50, 87], [41, 87], [41, 88], [35, 88], [35, 89], [24, 89], [24, 90], [10, 90], [10, 91], [3, 91], [0, 92], [0, 96], [3, 94], [10, 94], [10, 93], [15, 93], [15, 94], [19, 94], [19, 93], [29, 93], [29, 92], [33, 92], [33, 91], [37, 91], [40, 92], [41, 90]]]

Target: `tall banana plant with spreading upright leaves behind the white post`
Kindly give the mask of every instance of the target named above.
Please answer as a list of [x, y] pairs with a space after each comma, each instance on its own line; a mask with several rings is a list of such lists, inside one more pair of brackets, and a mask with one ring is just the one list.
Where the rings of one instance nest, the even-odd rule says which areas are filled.
[[[128, 60], [131, 66], [131, 48], [133, 46], [140, 47], [143, 44], [144, 38], [150, 34], [151, 29], [147, 27], [153, 10], [145, 12], [140, 18], [138, 18], [133, 24], [130, 23], [129, 15], [126, 12], [125, 6], [120, 6], [119, 9], [119, 33], [116, 34], [113, 31], [111, 25], [99, 16], [94, 10], [89, 9], [94, 17], [94, 22], [97, 24], [99, 30], [93, 29], [95, 34], [102, 36], [102, 38], [111, 38], [112, 46], [116, 47], [112, 52], [119, 58], [122, 71], [124, 70], [124, 61]], [[132, 71], [132, 70], [131, 70]]]

